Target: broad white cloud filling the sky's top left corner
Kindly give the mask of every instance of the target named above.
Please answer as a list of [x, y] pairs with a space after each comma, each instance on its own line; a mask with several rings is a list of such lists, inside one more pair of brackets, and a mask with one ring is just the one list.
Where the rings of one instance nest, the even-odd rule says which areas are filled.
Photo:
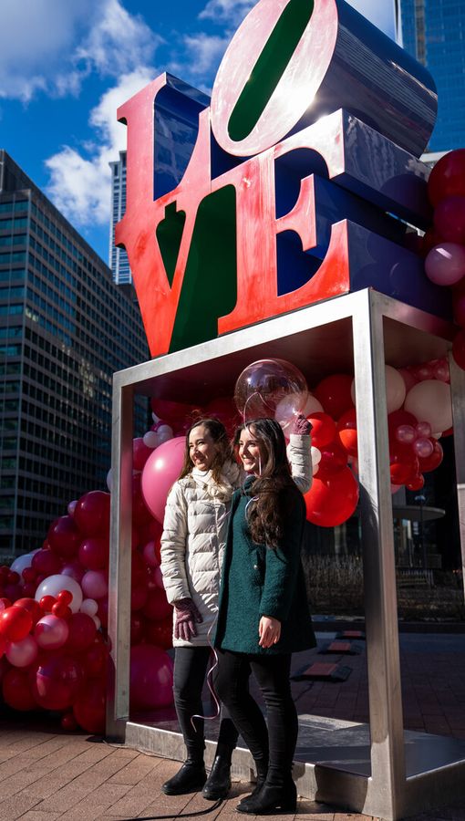
[[1, 13], [4, 99], [78, 95], [91, 71], [117, 77], [149, 65], [160, 44], [119, 0], [2, 0]]

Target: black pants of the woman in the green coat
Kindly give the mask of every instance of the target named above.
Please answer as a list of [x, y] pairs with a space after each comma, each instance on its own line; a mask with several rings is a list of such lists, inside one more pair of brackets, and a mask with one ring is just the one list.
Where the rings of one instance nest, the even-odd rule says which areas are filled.
[[[291, 693], [291, 655], [246, 655], [218, 650], [215, 688], [257, 767], [269, 758], [267, 781], [283, 785], [291, 778], [298, 721]], [[249, 692], [251, 670], [263, 694], [268, 730], [263, 713]]]

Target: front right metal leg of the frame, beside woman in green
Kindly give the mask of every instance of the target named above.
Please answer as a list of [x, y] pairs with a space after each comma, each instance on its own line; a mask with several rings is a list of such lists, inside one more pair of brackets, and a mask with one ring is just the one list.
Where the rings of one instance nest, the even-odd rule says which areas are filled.
[[360, 514], [364, 557], [371, 780], [399, 818], [406, 789], [398, 608], [389, 481], [383, 315], [363, 292], [353, 317]]

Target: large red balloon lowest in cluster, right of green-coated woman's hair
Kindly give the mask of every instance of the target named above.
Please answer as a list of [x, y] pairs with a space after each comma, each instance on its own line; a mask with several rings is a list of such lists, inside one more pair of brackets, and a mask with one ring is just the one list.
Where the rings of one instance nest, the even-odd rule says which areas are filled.
[[358, 483], [350, 468], [345, 467], [328, 479], [315, 479], [305, 494], [306, 517], [321, 527], [336, 527], [355, 512]]

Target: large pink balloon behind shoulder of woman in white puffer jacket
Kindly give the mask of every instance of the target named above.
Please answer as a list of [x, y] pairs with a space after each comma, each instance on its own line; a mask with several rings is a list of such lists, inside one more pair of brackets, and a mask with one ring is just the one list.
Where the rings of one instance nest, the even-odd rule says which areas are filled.
[[142, 471], [142, 495], [150, 513], [163, 522], [165, 504], [172, 485], [178, 479], [185, 452], [184, 436], [163, 442], [152, 452]]

